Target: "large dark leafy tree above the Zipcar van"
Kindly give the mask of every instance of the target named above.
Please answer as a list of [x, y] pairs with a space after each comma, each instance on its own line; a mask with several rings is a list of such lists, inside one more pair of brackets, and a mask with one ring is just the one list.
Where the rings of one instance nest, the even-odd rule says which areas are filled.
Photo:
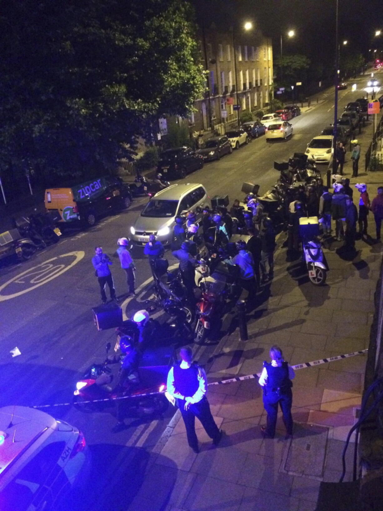
[[180, 0], [14, 0], [0, 13], [0, 170], [110, 171], [205, 86]]

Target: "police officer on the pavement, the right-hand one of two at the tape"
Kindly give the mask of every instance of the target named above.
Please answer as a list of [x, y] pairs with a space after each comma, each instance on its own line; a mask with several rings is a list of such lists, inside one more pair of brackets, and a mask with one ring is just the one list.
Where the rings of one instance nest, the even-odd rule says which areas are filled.
[[291, 405], [293, 392], [291, 380], [295, 378], [294, 369], [283, 360], [279, 346], [270, 348], [271, 362], [264, 362], [264, 368], [259, 378], [259, 385], [264, 389], [264, 406], [267, 412], [267, 425], [262, 426], [261, 432], [265, 438], [274, 438], [277, 423], [278, 403], [283, 413], [283, 423], [286, 428], [285, 438], [293, 435], [293, 417]]

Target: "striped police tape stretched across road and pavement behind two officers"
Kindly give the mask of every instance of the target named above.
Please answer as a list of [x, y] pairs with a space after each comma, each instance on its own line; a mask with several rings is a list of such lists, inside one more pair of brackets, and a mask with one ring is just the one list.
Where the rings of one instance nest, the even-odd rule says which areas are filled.
[[[320, 365], [320, 364], [326, 364], [326, 363], [329, 363], [329, 362], [334, 362], [336, 360], [341, 360], [341, 359], [344, 359], [344, 358], [350, 358], [350, 357], [355, 357], [356, 355], [363, 355], [365, 353], [368, 352], [368, 349], [367, 350], [361, 350], [361, 351], [356, 351], [356, 352], [352, 352], [352, 353], [347, 353], [345, 355], [336, 355], [334, 357], [329, 357], [329, 358], [321, 358], [320, 360], [314, 360], [312, 362], [303, 362], [302, 364], [297, 364], [297, 365], [292, 365], [292, 368], [293, 369], [303, 369], [305, 367], [315, 367], [317, 365]], [[211, 382], [211, 383], [208, 383], [207, 385], [210, 386], [210, 385], [223, 385], [223, 384], [226, 384], [226, 383], [234, 383], [234, 382], [240, 382], [240, 381], [244, 381], [244, 380], [252, 380], [252, 379], [255, 379], [255, 378], [259, 378], [261, 375], [261, 373], [254, 373], [253, 375], [246, 375], [246, 376], [237, 376], [235, 378], [229, 378], [227, 380], [220, 380], [218, 382]], [[161, 385], [162, 386], [162, 385]], [[161, 388], [161, 387], [160, 387]], [[142, 393], [142, 394], [129, 394], [128, 396], [113, 396], [113, 397], [110, 397], [110, 398], [104, 398], [104, 399], [93, 399], [93, 400], [89, 400], [89, 401], [74, 401], [72, 403], [54, 403], [54, 404], [51, 404], [51, 405], [35, 405], [35, 406], [31, 406], [31, 408], [52, 408], [52, 407], [57, 407], [57, 406], [71, 406], [72, 404], [74, 405], [78, 405], [78, 406], [82, 406], [82, 405], [87, 405], [87, 404], [90, 404], [90, 403], [110, 403], [110, 402], [113, 402], [113, 401], [120, 401], [120, 400], [123, 400], [123, 399], [135, 399], [135, 398], [144, 398], [144, 397], [147, 397], [147, 396], [156, 396], [158, 394], [166, 394], [166, 390], [165, 390], [165, 385], [163, 385], [163, 389], [161, 390], [156, 390], [154, 392], [145, 392], [145, 393]], [[169, 399], [169, 398], [167, 398]]]

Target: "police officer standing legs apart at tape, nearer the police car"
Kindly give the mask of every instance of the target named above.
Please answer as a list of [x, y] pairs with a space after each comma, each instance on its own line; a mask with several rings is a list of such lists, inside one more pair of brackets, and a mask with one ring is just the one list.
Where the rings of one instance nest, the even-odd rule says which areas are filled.
[[193, 352], [189, 346], [180, 350], [181, 362], [171, 367], [167, 375], [167, 391], [176, 398], [177, 405], [185, 423], [187, 443], [198, 453], [195, 417], [197, 417], [206, 433], [218, 445], [222, 438], [222, 430], [218, 429], [211, 415], [206, 398], [206, 373], [202, 367], [192, 362]]

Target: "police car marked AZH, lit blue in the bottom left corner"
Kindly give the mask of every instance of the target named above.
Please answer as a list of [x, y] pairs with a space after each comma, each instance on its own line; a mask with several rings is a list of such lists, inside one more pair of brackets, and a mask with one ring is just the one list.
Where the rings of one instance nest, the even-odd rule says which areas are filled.
[[81, 431], [27, 408], [0, 408], [2, 511], [56, 511], [90, 468]]

